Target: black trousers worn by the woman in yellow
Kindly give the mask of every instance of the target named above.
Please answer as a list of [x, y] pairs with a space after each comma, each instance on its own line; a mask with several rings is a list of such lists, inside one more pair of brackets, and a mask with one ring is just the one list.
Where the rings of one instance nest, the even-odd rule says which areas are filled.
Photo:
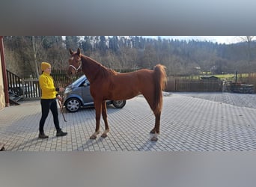
[[41, 99], [41, 109], [42, 109], [42, 117], [39, 123], [39, 132], [43, 132], [43, 126], [46, 122], [46, 118], [49, 114], [49, 110], [52, 111], [53, 122], [56, 130], [61, 129], [58, 121], [58, 106], [56, 99]]

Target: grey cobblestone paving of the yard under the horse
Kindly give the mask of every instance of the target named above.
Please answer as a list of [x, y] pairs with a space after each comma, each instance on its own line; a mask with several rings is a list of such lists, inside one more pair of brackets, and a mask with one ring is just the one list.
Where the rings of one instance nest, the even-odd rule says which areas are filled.
[[[96, 140], [89, 139], [95, 129], [94, 108], [64, 113], [67, 123], [59, 114], [68, 135], [58, 138], [49, 114], [49, 138], [38, 139], [40, 101], [26, 101], [0, 111], [0, 142], [7, 151], [256, 150], [255, 94], [231, 94], [165, 93], [156, 142], [150, 141], [154, 116], [143, 96], [128, 100], [122, 109], [109, 105], [109, 136]], [[103, 120], [100, 128], [103, 132]]]

